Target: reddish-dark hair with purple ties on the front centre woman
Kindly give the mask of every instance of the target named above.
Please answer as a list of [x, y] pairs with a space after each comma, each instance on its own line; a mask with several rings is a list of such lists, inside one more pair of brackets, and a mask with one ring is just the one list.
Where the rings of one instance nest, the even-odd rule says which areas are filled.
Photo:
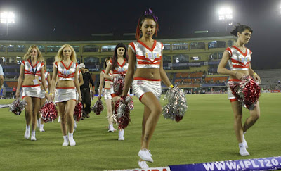
[[136, 26], [136, 34], [135, 34], [136, 39], [141, 38], [141, 26], [143, 25], [145, 19], [152, 19], [155, 21], [156, 23], [155, 37], [157, 37], [157, 32], [159, 31], [158, 18], [154, 13], [152, 13], [152, 10], [149, 9], [148, 11], [145, 11], [145, 13], [141, 15], [141, 17], [138, 19], [138, 25]]

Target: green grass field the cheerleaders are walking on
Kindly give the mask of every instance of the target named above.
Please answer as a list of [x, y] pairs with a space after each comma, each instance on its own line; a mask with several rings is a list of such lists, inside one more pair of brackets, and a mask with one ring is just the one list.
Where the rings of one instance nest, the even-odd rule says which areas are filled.
[[[181, 122], [160, 118], [150, 143], [150, 167], [280, 156], [281, 94], [262, 94], [261, 117], [246, 134], [251, 156], [238, 153], [233, 113], [226, 94], [187, 95], [188, 111]], [[96, 101], [94, 99], [94, 101]], [[0, 100], [11, 103], [13, 100]], [[76, 146], [62, 146], [60, 123], [37, 129], [37, 141], [24, 139], [25, 112], [17, 116], [0, 108], [0, 170], [121, 170], [138, 167], [143, 105], [134, 97], [131, 123], [118, 132], [107, 132], [105, 110], [81, 120], [74, 133]], [[164, 104], [164, 102], [162, 101]], [[244, 109], [244, 117], [249, 111]], [[116, 127], [116, 126], [115, 126]]]

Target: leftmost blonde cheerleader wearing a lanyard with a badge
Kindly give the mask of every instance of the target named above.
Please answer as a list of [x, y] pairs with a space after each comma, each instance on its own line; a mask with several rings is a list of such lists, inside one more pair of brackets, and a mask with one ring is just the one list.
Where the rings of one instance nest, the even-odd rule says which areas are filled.
[[31, 140], [35, 141], [37, 113], [39, 113], [41, 98], [39, 77], [42, 80], [42, 86], [45, 91], [44, 95], [49, 99], [44, 75], [44, 58], [36, 45], [30, 46], [23, 58], [24, 61], [20, 65], [20, 76], [18, 77], [18, 87], [15, 96], [17, 99], [19, 98], [22, 85], [22, 99], [27, 102], [25, 106], [25, 139], [30, 138], [30, 122], [32, 122]]

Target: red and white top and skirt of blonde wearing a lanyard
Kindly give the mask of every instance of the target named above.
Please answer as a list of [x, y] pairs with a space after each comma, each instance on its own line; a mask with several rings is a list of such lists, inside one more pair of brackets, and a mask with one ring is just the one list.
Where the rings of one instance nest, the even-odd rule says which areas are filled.
[[[41, 68], [44, 67], [44, 63], [39, 61], [32, 66], [30, 60], [22, 61], [21, 65], [25, 68], [25, 75], [34, 75], [34, 79], [35, 76], [41, 76]], [[22, 85], [22, 99], [25, 98], [25, 96], [40, 98], [40, 92], [39, 82], [34, 85]]]

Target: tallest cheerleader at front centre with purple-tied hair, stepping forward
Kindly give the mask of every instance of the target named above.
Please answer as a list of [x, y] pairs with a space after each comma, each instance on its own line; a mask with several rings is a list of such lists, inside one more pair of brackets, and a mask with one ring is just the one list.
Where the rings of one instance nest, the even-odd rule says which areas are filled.
[[148, 168], [146, 161], [153, 162], [148, 149], [159, 115], [162, 113], [159, 103], [162, 93], [161, 80], [167, 87], [173, 88], [163, 69], [164, 46], [152, 38], [153, 35], [157, 37], [159, 27], [157, 20], [158, 18], [151, 10], [145, 11], [138, 20], [137, 40], [129, 44], [129, 67], [123, 91], [123, 96], [126, 96], [131, 82], [133, 82], [133, 93], [144, 105], [141, 150], [138, 152], [140, 157], [138, 165], [141, 168]]

